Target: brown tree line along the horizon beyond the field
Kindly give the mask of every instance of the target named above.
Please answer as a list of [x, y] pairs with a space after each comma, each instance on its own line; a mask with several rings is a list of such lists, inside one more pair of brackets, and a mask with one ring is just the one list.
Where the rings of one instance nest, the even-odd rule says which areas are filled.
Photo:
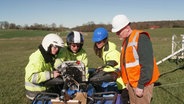
[[[173, 21], [144, 21], [144, 22], [132, 22], [131, 26], [136, 29], [155, 29], [155, 28], [184, 28], [184, 20], [173, 20]], [[74, 28], [64, 27], [63, 25], [57, 26], [55, 23], [38, 24], [33, 25], [17, 25], [15, 23], [9, 23], [8, 21], [0, 21], [0, 29], [25, 29], [25, 30], [46, 30], [46, 31], [67, 31], [76, 30], [83, 32], [92, 32], [97, 27], [105, 27], [108, 31], [111, 30], [111, 24], [96, 24], [93, 21], [76, 26]]]

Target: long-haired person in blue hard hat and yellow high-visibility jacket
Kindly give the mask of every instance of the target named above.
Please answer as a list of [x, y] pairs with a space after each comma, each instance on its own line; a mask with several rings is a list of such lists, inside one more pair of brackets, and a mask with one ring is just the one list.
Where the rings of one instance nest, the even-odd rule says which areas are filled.
[[[103, 27], [99, 27], [94, 30], [92, 41], [94, 42], [95, 54], [103, 60], [104, 64], [106, 64], [109, 60], [114, 60], [118, 63], [116, 66], [113, 66], [113, 67], [111, 66], [104, 67], [103, 68], [104, 72], [120, 73], [120, 70], [119, 70], [120, 69], [120, 60], [119, 60], [120, 52], [116, 49], [117, 46], [113, 42], [109, 41], [108, 38], [109, 38], [109, 34], [108, 34], [107, 29]], [[112, 82], [103, 82], [103, 84], [112, 85]], [[102, 87], [103, 87], [103, 84], [102, 84]], [[126, 93], [127, 92], [125, 88], [126, 86], [121, 76], [117, 78], [114, 84], [117, 86], [117, 89], [113, 89], [113, 90], [117, 91], [119, 94], [122, 94], [124, 96], [122, 100], [123, 100], [123, 104], [126, 104], [129, 98], [128, 96], [126, 96], [128, 94]]]

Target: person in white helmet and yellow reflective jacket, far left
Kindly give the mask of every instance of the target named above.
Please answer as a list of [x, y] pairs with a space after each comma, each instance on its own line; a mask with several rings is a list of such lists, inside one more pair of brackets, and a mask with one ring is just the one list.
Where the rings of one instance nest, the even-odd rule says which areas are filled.
[[60, 73], [54, 69], [55, 58], [64, 42], [57, 34], [47, 34], [38, 49], [29, 57], [25, 67], [25, 89], [26, 97], [33, 100], [39, 92], [47, 92], [49, 87], [46, 83], [57, 81], [62, 84], [59, 78]]

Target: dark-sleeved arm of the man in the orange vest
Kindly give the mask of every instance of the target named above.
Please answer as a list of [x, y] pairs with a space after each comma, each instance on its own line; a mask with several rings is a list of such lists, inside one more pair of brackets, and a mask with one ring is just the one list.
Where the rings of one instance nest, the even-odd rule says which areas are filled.
[[141, 34], [138, 42], [138, 55], [141, 65], [138, 88], [143, 89], [144, 85], [149, 82], [153, 74], [153, 48], [150, 38]]

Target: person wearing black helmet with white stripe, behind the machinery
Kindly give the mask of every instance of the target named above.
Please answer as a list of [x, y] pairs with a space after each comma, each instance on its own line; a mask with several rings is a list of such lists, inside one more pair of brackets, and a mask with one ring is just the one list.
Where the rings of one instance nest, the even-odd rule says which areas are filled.
[[82, 32], [71, 31], [66, 37], [66, 43], [55, 61], [55, 68], [63, 61], [81, 61], [85, 65], [86, 78], [88, 78], [88, 56], [83, 48], [84, 36]]

